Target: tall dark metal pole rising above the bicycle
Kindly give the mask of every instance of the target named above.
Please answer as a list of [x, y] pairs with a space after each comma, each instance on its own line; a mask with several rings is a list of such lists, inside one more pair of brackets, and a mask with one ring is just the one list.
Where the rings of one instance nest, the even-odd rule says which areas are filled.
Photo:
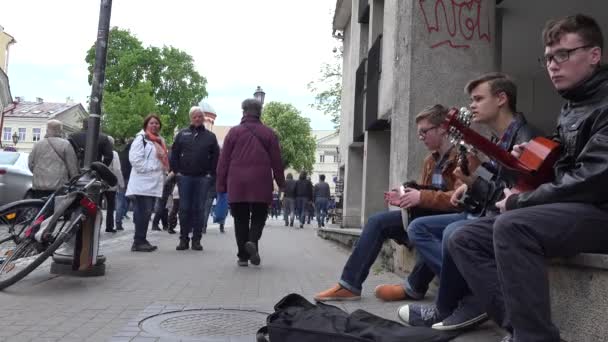
[[93, 71], [93, 88], [91, 90], [91, 102], [89, 106], [89, 126], [87, 129], [87, 142], [84, 152], [85, 168], [89, 167], [93, 161], [97, 160], [97, 143], [99, 140], [99, 126], [101, 123], [101, 100], [103, 97], [103, 84], [106, 75], [106, 56], [108, 52], [111, 13], [112, 0], [101, 0], [97, 42], [95, 43], [95, 68]]

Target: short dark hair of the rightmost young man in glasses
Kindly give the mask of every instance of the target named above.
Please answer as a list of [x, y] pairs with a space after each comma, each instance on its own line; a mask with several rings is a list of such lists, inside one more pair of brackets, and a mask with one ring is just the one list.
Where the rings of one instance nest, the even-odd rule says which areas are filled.
[[604, 37], [600, 26], [595, 19], [584, 14], [548, 21], [543, 29], [543, 44], [545, 46], [557, 44], [562, 36], [568, 33], [578, 34], [585, 45], [604, 49]]

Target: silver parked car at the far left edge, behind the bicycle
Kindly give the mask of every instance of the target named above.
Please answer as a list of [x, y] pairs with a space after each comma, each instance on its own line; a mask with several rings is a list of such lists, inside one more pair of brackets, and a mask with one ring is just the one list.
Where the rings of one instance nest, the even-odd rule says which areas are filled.
[[0, 151], [0, 205], [29, 197], [33, 175], [27, 166], [28, 156]]

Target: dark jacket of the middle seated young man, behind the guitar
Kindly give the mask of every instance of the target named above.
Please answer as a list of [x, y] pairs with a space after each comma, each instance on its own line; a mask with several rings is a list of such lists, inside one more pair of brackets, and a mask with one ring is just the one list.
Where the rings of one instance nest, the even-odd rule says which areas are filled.
[[[540, 135], [540, 131], [531, 126], [523, 115], [516, 114], [516, 119], [521, 120], [523, 124], [511, 137], [509, 147], [507, 148], [508, 151], [513, 150], [514, 145], [528, 142], [532, 138]], [[493, 177], [490, 179], [477, 177], [469, 188], [467, 195], [477, 202], [479, 209], [481, 209], [479, 214], [482, 216], [493, 216], [499, 213], [495, 204], [504, 197], [503, 190], [515, 185], [518, 174], [501, 164], [497, 164], [497, 166], [494, 167], [484, 163], [480, 167], [484, 167], [490, 171], [490, 173], [493, 174]]]

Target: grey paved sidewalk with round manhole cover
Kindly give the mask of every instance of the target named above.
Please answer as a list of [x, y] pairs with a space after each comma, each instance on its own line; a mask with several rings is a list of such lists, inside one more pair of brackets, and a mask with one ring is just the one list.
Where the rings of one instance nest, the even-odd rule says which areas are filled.
[[[148, 238], [159, 249], [134, 253], [133, 225], [127, 220], [124, 226], [124, 232], [102, 233], [105, 276], [52, 275], [47, 261], [0, 292], [0, 341], [210, 341], [200, 337], [206, 334], [217, 342], [224, 330], [238, 335], [264, 325], [266, 313], [289, 293], [312, 301], [336, 283], [349, 253], [318, 238], [313, 225], [294, 229], [269, 219], [260, 242], [261, 266], [238, 267], [231, 220], [225, 234], [217, 224], [209, 226], [203, 252], [176, 251], [178, 234], [150, 231]], [[397, 308], [405, 302], [381, 302], [373, 289], [400, 281], [375, 267], [361, 301], [336, 305], [398, 321]], [[173, 313], [158, 316], [167, 312]], [[253, 337], [231, 339], [237, 340]], [[486, 325], [455, 341], [499, 340]]]

